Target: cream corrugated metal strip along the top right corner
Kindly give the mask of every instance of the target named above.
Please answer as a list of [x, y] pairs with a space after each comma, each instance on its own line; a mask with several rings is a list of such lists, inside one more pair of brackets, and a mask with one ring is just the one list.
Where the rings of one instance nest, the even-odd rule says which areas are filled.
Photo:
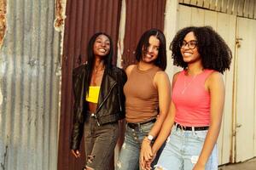
[[256, 19], [255, 0], [179, 0], [179, 3]]

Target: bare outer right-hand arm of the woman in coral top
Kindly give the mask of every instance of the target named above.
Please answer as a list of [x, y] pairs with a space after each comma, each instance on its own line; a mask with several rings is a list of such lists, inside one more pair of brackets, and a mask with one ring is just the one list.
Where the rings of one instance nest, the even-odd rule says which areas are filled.
[[219, 72], [213, 72], [210, 77], [207, 78], [206, 87], [211, 95], [211, 122], [194, 170], [204, 169], [209, 156], [211, 156], [212, 149], [218, 139], [224, 109], [224, 81], [221, 74]]

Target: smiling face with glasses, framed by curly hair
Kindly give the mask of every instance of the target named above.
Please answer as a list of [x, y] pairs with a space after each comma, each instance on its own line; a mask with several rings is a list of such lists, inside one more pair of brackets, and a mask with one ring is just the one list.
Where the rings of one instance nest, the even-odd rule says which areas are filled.
[[[196, 42], [196, 37], [192, 31], [190, 31], [183, 39], [183, 45], [181, 45], [180, 52], [183, 55], [183, 61], [188, 64], [201, 61]], [[193, 46], [195, 46], [195, 48]]]

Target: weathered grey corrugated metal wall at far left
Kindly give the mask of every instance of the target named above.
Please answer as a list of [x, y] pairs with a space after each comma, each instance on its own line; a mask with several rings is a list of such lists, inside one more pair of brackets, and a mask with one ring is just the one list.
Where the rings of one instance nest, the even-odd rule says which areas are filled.
[[54, 1], [7, 1], [0, 49], [0, 169], [57, 167], [60, 35]]

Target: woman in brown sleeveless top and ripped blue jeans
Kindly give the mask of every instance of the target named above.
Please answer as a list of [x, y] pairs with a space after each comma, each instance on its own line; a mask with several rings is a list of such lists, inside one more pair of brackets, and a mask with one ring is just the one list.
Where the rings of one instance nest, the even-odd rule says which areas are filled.
[[[137, 65], [126, 69], [125, 141], [118, 170], [139, 169], [140, 150], [151, 150], [170, 104], [170, 82], [166, 70], [166, 38], [162, 31], [144, 32], [137, 44]], [[149, 144], [143, 144], [149, 143]], [[143, 148], [141, 148], [143, 144]], [[157, 160], [157, 159], [155, 159]]]

